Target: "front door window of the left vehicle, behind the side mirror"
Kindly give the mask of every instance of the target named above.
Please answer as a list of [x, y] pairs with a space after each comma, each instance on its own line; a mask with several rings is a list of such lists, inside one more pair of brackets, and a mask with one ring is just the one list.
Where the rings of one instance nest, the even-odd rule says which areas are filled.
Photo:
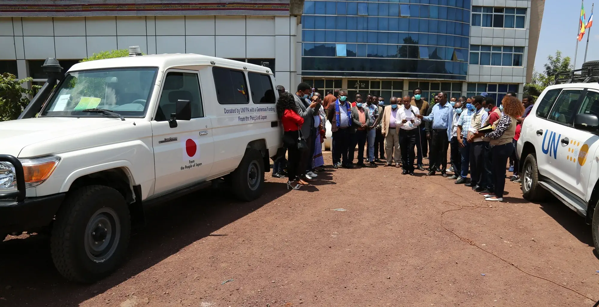
[[156, 111], [156, 121], [167, 121], [171, 118], [171, 114], [177, 113], [177, 101], [179, 100], [190, 101], [191, 118], [204, 117], [198, 74], [179, 71], [167, 73]]

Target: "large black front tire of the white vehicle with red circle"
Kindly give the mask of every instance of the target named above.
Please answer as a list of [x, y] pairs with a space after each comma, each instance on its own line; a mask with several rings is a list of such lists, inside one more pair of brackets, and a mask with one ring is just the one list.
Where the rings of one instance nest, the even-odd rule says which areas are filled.
[[50, 237], [52, 260], [66, 279], [95, 282], [122, 262], [130, 234], [123, 195], [108, 186], [84, 186], [69, 192], [56, 214]]

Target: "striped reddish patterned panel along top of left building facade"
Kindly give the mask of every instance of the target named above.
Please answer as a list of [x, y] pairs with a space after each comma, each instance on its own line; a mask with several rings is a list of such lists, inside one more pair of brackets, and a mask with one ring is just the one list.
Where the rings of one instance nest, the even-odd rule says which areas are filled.
[[0, 0], [0, 16], [289, 15], [289, 0]]

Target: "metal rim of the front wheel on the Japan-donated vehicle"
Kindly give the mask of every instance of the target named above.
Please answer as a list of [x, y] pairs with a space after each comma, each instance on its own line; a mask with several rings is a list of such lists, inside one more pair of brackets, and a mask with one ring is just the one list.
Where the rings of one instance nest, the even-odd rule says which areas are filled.
[[119, 245], [120, 219], [117, 213], [103, 207], [93, 213], [85, 228], [85, 252], [94, 262], [108, 260]]

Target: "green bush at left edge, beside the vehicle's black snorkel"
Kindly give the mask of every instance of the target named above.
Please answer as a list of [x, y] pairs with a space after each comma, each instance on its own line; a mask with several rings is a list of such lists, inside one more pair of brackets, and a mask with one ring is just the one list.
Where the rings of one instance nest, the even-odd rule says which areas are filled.
[[[29, 104], [29, 97], [34, 96], [34, 91], [21, 86], [25, 82], [31, 82], [32, 78], [17, 79], [13, 74], [4, 73], [0, 75], [0, 122], [11, 121], [19, 118], [23, 109]], [[41, 86], [33, 85], [34, 90]]]

